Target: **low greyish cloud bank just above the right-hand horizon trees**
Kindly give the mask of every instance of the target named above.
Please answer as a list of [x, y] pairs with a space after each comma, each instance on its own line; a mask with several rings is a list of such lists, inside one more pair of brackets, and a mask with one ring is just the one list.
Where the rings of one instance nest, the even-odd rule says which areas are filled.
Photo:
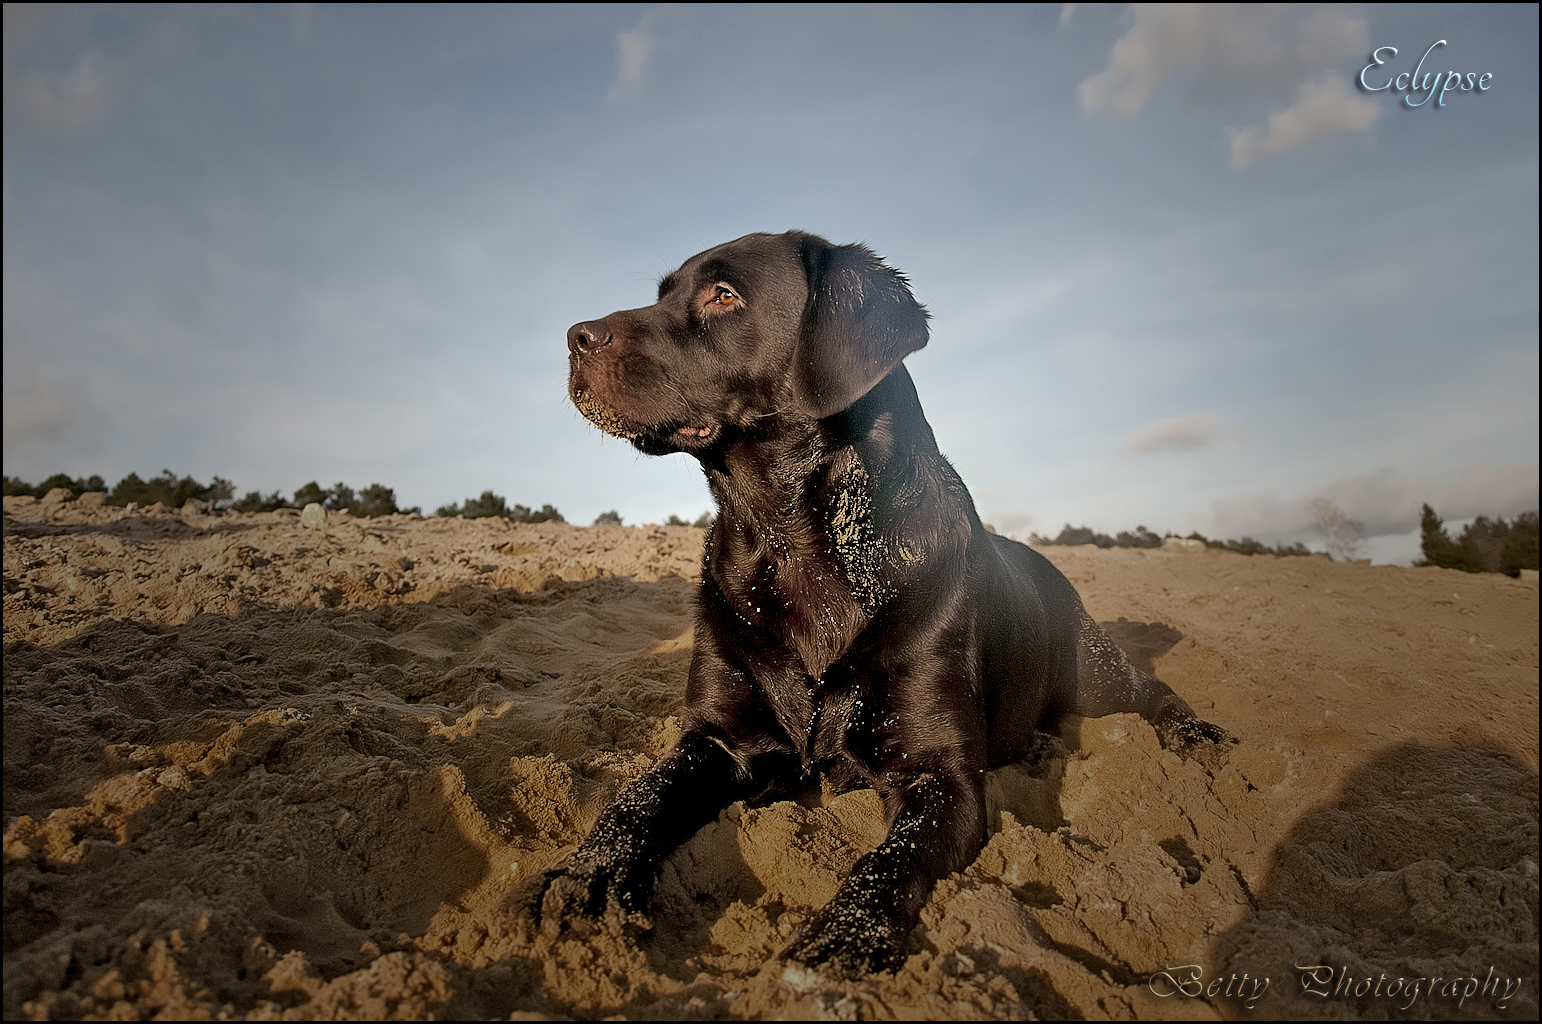
[[1419, 526], [1419, 509], [1429, 504], [1445, 520], [1474, 515], [1513, 517], [1537, 507], [1537, 463], [1468, 463], [1454, 480], [1436, 483], [1392, 470], [1340, 477], [1295, 500], [1252, 493], [1215, 503], [1221, 537], [1289, 538], [1311, 532], [1309, 504], [1334, 501], [1349, 518], [1365, 524], [1366, 537], [1405, 534]]

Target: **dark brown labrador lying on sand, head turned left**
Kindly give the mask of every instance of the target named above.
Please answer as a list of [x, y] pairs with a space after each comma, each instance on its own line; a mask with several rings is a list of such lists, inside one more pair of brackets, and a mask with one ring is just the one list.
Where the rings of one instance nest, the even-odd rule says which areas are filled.
[[[1055, 566], [981, 526], [901, 361], [908, 282], [862, 245], [748, 234], [658, 301], [567, 332], [574, 404], [717, 500], [680, 742], [515, 898], [550, 936], [643, 921], [660, 862], [737, 799], [871, 787], [888, 837], [783, 956], [896, 967], [938, 879], [985, 842], [985, 771], [1059, 714], [1227, 739], [1135, 671]], [[1212, 748], [1214, 749], [1214, 748]]]

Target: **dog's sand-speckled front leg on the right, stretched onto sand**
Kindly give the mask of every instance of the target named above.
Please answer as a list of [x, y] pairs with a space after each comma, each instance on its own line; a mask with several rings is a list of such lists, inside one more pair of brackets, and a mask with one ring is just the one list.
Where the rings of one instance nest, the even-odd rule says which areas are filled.
[[876, 788], [888, 810], [888, 837], [857, 861], [782, 956], [847, 978], [897, 968], [933, 885], [968, 867], [985, 845], [982, 771], [956, 763], [893, 771]]

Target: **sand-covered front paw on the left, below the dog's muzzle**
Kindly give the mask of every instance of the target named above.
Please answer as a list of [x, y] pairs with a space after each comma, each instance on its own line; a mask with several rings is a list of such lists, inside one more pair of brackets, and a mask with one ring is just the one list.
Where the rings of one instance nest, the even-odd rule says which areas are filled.
[[557, 939], [564, 930], [584, 938], [597, 928], [637, 935], [652, 927], [643, 915], [646, 896], [638, 890], [625, 870], [580, 851], [521, 882], [509, 905], [527, 938], [538, 931]]

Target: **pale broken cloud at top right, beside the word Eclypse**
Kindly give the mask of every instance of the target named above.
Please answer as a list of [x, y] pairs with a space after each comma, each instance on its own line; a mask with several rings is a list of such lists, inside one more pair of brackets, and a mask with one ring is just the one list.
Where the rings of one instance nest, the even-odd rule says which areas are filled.
[[1363, 17], [1261, 5], [1132, 5], [1133, 26], [1109, 66], [1078, 86], [1086, 114], [1133, 117], [1169, 79], [1187, 79], [1190, 99], [1224, 103], [1260, 89], [1294, 102], [1263, 125], [1231, 131], [1232, 167], [1281, 156], [1312, 139], [1365, 131], [1380, 114], [1337, 77], [1345, 59], [1369, 46]]

